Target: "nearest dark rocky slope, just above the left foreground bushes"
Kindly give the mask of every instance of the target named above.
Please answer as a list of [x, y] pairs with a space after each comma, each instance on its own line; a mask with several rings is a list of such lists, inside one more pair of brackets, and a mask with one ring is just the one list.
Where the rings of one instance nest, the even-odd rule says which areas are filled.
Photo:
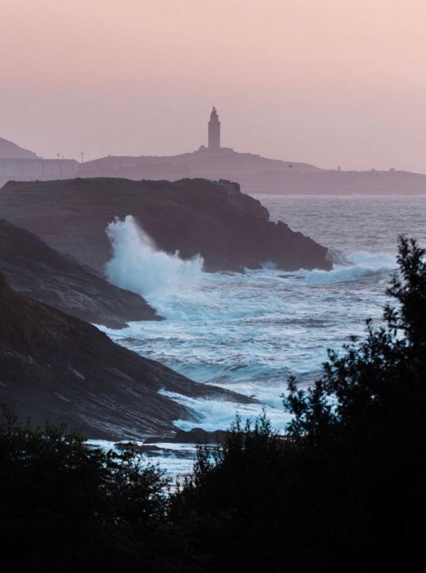
[[20, 418], [66, 422], [87, 437], [106, 439], [167, 437], [173, 420], [200, 421], [161, 389], [250, 402], [191, 382], [113, 343], [96, 327], [15, 293], [0, 274], [0, 402]]

